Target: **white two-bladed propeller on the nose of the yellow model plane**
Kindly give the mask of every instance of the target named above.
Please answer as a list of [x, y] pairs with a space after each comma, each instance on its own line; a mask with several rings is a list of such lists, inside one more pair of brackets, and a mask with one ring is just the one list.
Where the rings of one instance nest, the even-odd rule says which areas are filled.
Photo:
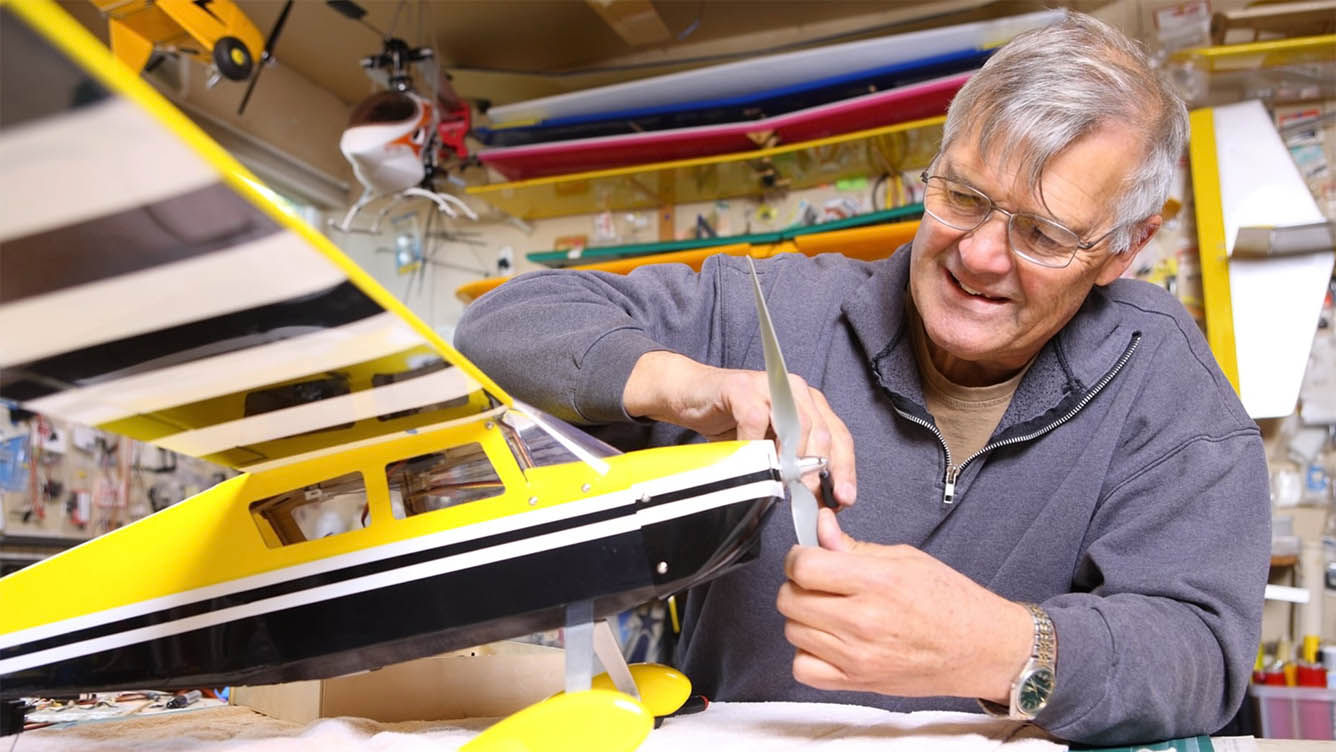
[[803, 435], [803, 426], [798, 419], [794, 391], [788, 386], [784, 354], [779, 351], [779, 338], [775, 337], [775, 326], [771, 323], [770, 309], [766, 307], [766, 297], [762, 294], [756, 264], [751, 256], [747, 256], [747, 266], [751, 267], [752, 289], [756, 293], [756, 319], [760, 322], [760, 341], [766, 349], [766, 377], [770, 381], [770, 422], [775, 426], [775, 437], [779, 438], [779, 472], [784, 485], [788, 486], [794, 533], [798, 534], [800, 545], [815, 546], [818, 545], [816, 497], [803, 484], [803, 473], [798, 466], [798, 442]]

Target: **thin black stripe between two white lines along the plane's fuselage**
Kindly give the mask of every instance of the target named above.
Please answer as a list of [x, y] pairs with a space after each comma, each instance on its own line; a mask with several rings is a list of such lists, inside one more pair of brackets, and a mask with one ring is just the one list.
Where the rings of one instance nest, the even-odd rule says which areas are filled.
[[[768, 472], [763, 472], [763, 473], [768, 474]], [[732, 488], [732, 486], [741, 486], [741, 485], [745, 485], [745, 484], [751, 484], [751, 482], [755, 482], [758, 480], [758, 478], [755, 478], [756, 474], [758, 473], [749, 473], [747, 476], [741, 476], [741, 477], [732, 478], [732, 480], [724, 480], [724, 481], [716, 481], [716, 482], [711, 482], [711, 484], [703, 484], [700, 486], [693, 486], [693, 488], [689, 488], [689, 489], [683, 489], [680, 492], [671, 492], [671, 494], [675, 497], [672, 501], [680, 501], [683, 498], [691, 498], [691, 497], [695, 497], [695, 496], [703, 496], [704, 493], [712, 493], [712, 492], [723, 490], [723, 489]], [[697, 490], [697, 489], [701, 489], [701, 490]], [[613, 518], [617, 518], [617, 517], [624, 517], [624, 516], [635, 514], [639, 509], [644, 509], [645, 506], [656, 505], [657, 504], [657, 498], [659, 497], [655, 497], [653, 500], [651, 500], [648, 505], [645, 505], [645, 504], [627, 504], [627, 505], [623, 505], [623, 506], [617, 506], [615, 509], [607, 509], [607, 510], [603, 510], [603, 512], [595, 512], [595, 513], [589, 513], [589, 514], [581, 514], [581, 516], [577, 516], [577, 517], [570, 517], [570, 518], [565, 518], [565, 520], [557, 520], [557, 521], [546, 522], [546, 524], [542, 524], [542, 525], [533, 525], [533, 526], [521, 528], [521, 529], [517, 529], [517, 530], [509, 530], [506, 533], [498, 533], [496, 536], [488, 536], [485, 538], [476, 538], [476, 540], [470, 540], [470, 541], [461, 541], [461, 542], [457, 542], [457, 544], [448, 544], [448, 545], [444, 545], [444, 546], [436, 546], [436, 548], [430, 548], [430, 549], [425, 549], [425, 550], [420, 550], [420, 552], [411, 552], [411, 553], [406, 553], [406, 554], [399, 554], [399, 556], [383, 558], [383, 560], [379, 560], [379, 561], [369, 561], [369, 562], [365, 562], [365, 564], [359, 564], [359, 565], [354, 565], [354, 566], [347, 566], [347, 568], [342, 568], [342, 569], [335, 569], [335, 570], [331, 570], [331, 572], [322, 572], [319, 574], [311, 574], [311, 576], [307, 576], [307, 577], [299, 577], [299, 578], [295, 578], [295, 580], [277, 582], [274, 585], [267, 585], [267, 586], [263, 586], [263, 588], [255, 588], [255, 589], [250, 589], [250, 590], [242, 590], [242, 592], [236, 592], [236, 593], [228, 593], [226, 596], [218, 596], [218, 597], [214, 597], [214, 598], [206, 598], [206, 600], [195, 601], [195, 602], [191, 602], [191, 604], [183, 604], [183, 605], [179, 605], [179, 606], [171, 606], [171, 608], [166, 608], [166, 609], [151, 612], [151, 613], [144, 613], [144, 614], [139, 614], [139, 616], [134, 616], [134, 617], [128, 617], [128, 618], [122, 618], [122, 620], [107, 622], [107, 624], [100, 624], [98, 626], [90, 626], [90, 628], [86, 628], [86, 629], [79, 629], [79, 630], [73, 630], [73, 632], [65, 632], [63, 634], [55, 634], [52, 637], [45, 637], [43, 640], [36, 640], [36, 641], [32, 641], [32, 642], [24, 642], [24, 644], [20, 644], [20, 645], [13, 645], [13, 646], [9, 646], [9, 648], [0, 649], [0, 660], [12, 659], [12, 657], [16, 657], [16, 656], [20, 656], [20, 654], [27, 654], [27, 653], [33, 653], [33, 652], [37, 652], [37, 650], [45, 650], [45, 649], [56, 648], [56, 646], [65, 645], [65, 644], [69, 644], [69, 642], [80, 642], [80, 641], [92, 640], [92, 638], [96, 638], [96, 637], [106, 637], [108, 634], [115, 634], [115, 633], [119, 633], [119, 632], [127, 632], [127, 630], [131, 630], [131, 629], [139, 629], [139, 628], [143, 628], [143, 626], [152, 626], [152, 625], [156, 625], [156, 624], [166, 624], [166, 622], [170, 622], [170, 621], [176, 621], [179, 618], [187, 618], [187, 617], [191, 617], [191, 616], [198, 616], [200, 613], [207, 613], [207, 612], [212, 612], [212, 610], [220, 610], [220, 609], [230, 608], [230, 606], [236, 606], [236, 605], [244, 605], [244, 604], [259, 601], [259, 600], [263, 600], [263, 598], [270, 598], [270, 597], [275, 597], [275, 596], [285, 596], [285, 594], [289, 594], [289, 593], [295, 593], [295, 592], [306, 590], [306, 589], [310, 589], [310, 588], [318, 588], [318, 586], [322, 586], [322, 585], [330, 585], [330, 584], [341, 582], [341, 581], [345, 581], [345, 580], [353, 580], [353, 578], [357, 578], [357, 577], [365, 577], [365, 576], [369, 576], [369, 574], [377, 574], [377, 573], [387, 572], [387, 570], [391, 570], [391, 569], [399, 569], [399, 568], [405, 568], [405, 566], [411, 566], [414, 564], [421, 564], [421, 562], [425, 562], [425, 561], [433, 561], [433, 560], [438, 560], [438, 558], [446, 558], [446, 557], [452, 557], [452, 556], [458, 556], [458, 554], [464, 554], [464, 553], [469, 553], [469, 552], [474, 552], [474, 550], [481, 550], [481, 549], [486, 549], [486, 548], [493, 548], [493, 546], [498, 546], [498, 545], [504, 545], [504, 544], [509, 544], [509, 542], [514, 542], [514, 541], [521, 541], [521, 540], [525, 540], [525, 538], [532, 538], [532, 537], [537, 537], [537, 536], [542, 536], [542, 534], [548, 534], [548, 533], [557, 533], [557, 532], [561, 532], [561, 530], [566, 530], [566, 529], [572, 529], [572, 528], [578, 528], [581, 525], [592, 525], [592, 524], [596, 524], [596, 522], [603, 522], [603, 521], [607, 521], [607, 520], [613, 520]], [[301, 545], [301, 544], [297, 544], [297, 545]]]

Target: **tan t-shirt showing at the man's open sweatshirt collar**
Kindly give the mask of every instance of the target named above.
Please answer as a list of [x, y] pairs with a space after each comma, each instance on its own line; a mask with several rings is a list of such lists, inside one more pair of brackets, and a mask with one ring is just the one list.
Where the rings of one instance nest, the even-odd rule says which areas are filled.
[[[927, 411], [937, 421], [938, 430], [951, 449], [951, 463], [965, 462], [975, 451], [983, 449], [994, 429], [1011, 403], [1017, 385], [1030, 369], [1023, 369], [1003, 382], [989, 386], [961, 386], [942, 375], [933, 365], [927, 351], [927, 335], [918, 311], [910, 307], [911, 331], [914, 334], [914, 355], [918, 359], [919, 381], [923, 382], [923, 401]], [[1031, 361], [1033, 362], [1033, 361]]]

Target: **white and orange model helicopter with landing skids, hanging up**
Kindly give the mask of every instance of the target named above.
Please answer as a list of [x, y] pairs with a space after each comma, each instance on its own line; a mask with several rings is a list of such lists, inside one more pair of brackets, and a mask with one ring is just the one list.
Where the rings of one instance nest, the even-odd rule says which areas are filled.
[[414, 88], [410, 67], [434, 61], [433, 51], [411, 47], [382, 32], [366, 21], [366, 9], [351, 0], [329, 0], [327, 4], [381, 37], [381, 52], [363, 57], [362, 68], [369, 75], [375, 73], [373, 79], [383, 77], [387, 87], [387, 91], [363, 99], [349, 115], [339, 150], [353, 164], [362, 195], [333, 226], [345, 232], [353, 231], [357, 214], [383, 198], [390, 202], [377, 214], [369, 232], [378, 232], [381, 220], [390, 210], [411, 198], [428, 199], [449, 216], [462, 212], [477, 219], [477, 214], [457, 196], [433, 187], [446, 159], [469, 156], [464, 139], [472, 118], [469, 104], [454, 93], [440, 67], [425, 65], [428, 95]]

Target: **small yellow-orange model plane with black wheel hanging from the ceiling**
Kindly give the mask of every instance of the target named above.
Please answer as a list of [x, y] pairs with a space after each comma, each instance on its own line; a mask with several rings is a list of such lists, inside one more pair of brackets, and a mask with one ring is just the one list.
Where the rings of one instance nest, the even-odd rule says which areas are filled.
[[274, 56], [274, 44], [293, 9], [283, 9], [263, 39], [232, 0], [90, 0], [107, 17], [111, 51], [134, 71], [151, 68], [163, 53], [180, 53], [210, 67], [218, 77], [248, 80], [236, 114], [255, 89], [259, 73]]

